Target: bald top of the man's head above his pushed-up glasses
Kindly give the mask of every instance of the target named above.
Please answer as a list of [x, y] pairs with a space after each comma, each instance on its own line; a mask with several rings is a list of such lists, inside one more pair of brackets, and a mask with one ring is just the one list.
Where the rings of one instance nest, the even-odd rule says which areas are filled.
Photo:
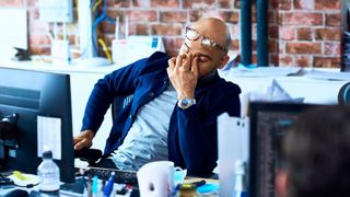
[[202, 35], [213, 39], [220, 46], [229, 49], [231, 35], [228, 25], [217, 18], [202, 18], [194, 25]]

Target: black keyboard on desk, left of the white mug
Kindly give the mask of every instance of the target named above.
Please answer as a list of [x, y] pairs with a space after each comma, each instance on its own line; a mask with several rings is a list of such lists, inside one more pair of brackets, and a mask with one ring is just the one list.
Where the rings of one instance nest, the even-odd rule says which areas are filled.
[[96, 175], [100, 179], [108, 179], [110, 173], [115, 172], [116, 176], [114, 178], [115, 183], [118, 184], [130, 184], [132, 186], [138, 185], [138, 177], [135, 171], [121, 171], [116, 169], [102, 169], [102, 167], [86, 167], [84, 169], [85, 176]]

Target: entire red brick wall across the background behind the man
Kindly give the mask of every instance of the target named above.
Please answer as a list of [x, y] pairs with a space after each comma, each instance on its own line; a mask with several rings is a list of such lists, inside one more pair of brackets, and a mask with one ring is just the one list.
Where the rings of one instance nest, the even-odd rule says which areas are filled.
[[[340, 67], [341, 0], [269, 0], [269, 51], [275, 66]], [[184, 26], [201, 16], [219, 16], [232, 32], [231, 49], [240, 51], [240, 0], [107, 0], [108, 15], [129, 16], [129, 33], [162, 35], [170, 55], [176, 55]], [[0, 8], [28, 8], [28, 43], [34, 54], [49, 54], [49, 24], [38, 20], [37, 0], [1, 0]], [[256, 62], [256, 16], [253, 8], [253, 48]], [[75, 14], [77, 15], [77, 14]], [[75, 18], [77, 19], [77, 18]], [[114, 24], [100, 30], [108, 46]], [[121, 21], [121, 34], [124, 33]], [[72, 48], [78, 51], [77, 20], [68, 25]]]

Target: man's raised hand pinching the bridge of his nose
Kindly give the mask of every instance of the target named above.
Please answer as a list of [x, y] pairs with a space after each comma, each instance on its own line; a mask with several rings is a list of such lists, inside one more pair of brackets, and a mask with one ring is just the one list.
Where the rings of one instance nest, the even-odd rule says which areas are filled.
[[167, 76], [177, 92], [177, 99], [194, 99], [198, 80], [198, 57], [182, 54], [168, 60]]

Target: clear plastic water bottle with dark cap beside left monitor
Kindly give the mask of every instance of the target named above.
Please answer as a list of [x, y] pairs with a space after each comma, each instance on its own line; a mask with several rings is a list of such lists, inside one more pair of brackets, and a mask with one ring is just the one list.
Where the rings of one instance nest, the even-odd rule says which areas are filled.
[[59, 190], [59, 167], [52, 160], [52, 152], [43, 152], [43, 162], [37, 167], [37, 175], [39, 176], [39, 189], [43, 192]]

